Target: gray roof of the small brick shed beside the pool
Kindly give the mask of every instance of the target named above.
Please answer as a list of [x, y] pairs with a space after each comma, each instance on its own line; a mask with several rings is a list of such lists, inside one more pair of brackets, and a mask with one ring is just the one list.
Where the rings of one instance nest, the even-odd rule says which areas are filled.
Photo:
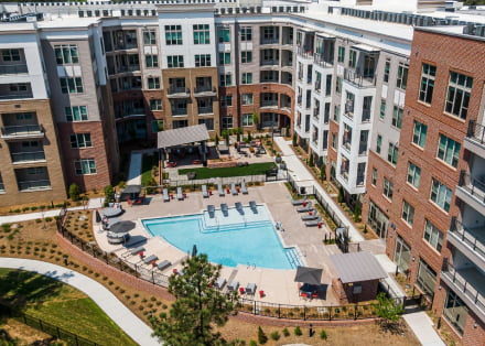
[[342, 283], [362, 282], [387, 278], [377, 259], [367, 251], [338, 253], [330, 257]]

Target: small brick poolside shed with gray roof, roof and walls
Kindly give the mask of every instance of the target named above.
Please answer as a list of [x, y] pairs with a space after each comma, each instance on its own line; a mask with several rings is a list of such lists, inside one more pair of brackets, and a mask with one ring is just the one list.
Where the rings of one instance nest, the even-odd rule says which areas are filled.
[[332, 286], [342, 304], [376, 299], [379, 281], [387, 278], [387, 273], [373, 253], [338, 253], [330, 259], [337, 273]]

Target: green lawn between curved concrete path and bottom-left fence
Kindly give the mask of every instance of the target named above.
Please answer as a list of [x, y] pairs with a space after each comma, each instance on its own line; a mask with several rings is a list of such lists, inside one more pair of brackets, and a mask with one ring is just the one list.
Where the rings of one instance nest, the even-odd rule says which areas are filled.
[[0, 301], [99, 345], [137, 345], [86, 294], [44, 275], [0, 268]]

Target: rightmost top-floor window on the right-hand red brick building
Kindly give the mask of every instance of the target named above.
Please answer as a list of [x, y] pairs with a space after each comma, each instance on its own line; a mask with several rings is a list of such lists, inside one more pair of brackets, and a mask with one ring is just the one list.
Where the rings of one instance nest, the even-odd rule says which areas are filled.
[[444, 111], [461, 119], [466, 119], [472, 86], [472, 77], [451, 72]]

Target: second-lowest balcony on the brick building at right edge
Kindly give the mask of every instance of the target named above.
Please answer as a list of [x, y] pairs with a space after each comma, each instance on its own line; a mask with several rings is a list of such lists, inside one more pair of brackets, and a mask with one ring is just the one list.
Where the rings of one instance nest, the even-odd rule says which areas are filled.
[[485, 268], [485, 225], [466, 227], [453, 217], [448, 241], [475, 264]]

